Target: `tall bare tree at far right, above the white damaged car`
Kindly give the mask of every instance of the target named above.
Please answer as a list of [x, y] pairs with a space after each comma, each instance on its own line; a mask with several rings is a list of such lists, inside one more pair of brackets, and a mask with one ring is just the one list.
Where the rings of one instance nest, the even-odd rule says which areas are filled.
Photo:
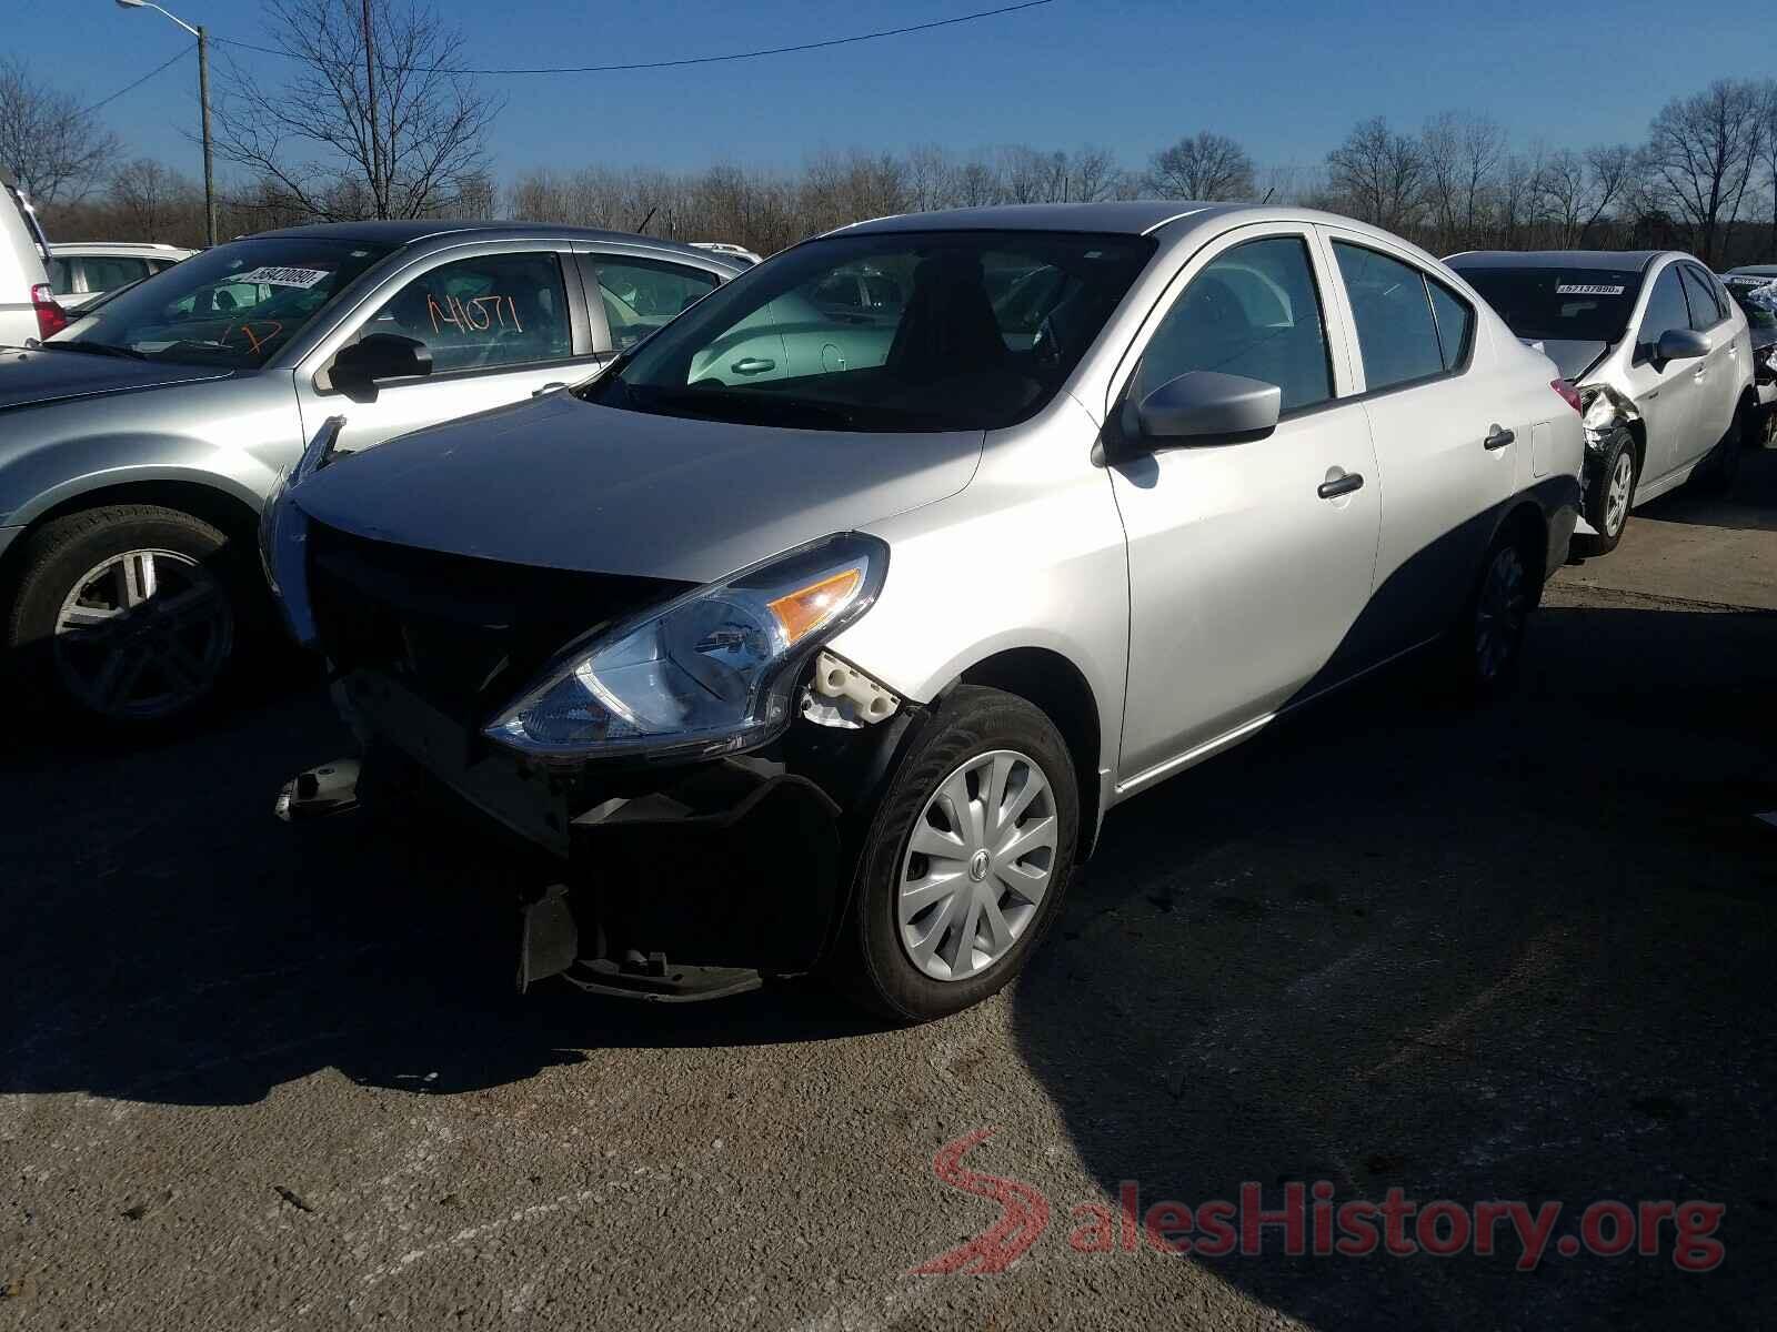
[[1647, 162], [1704, 263], [1715, 263], [1722, 227], [1740, 217], [1763, 156], [1766, 103], [1757, 83], [1718, 78], [1702, 92], [1674, 98], [1653, 121]]

